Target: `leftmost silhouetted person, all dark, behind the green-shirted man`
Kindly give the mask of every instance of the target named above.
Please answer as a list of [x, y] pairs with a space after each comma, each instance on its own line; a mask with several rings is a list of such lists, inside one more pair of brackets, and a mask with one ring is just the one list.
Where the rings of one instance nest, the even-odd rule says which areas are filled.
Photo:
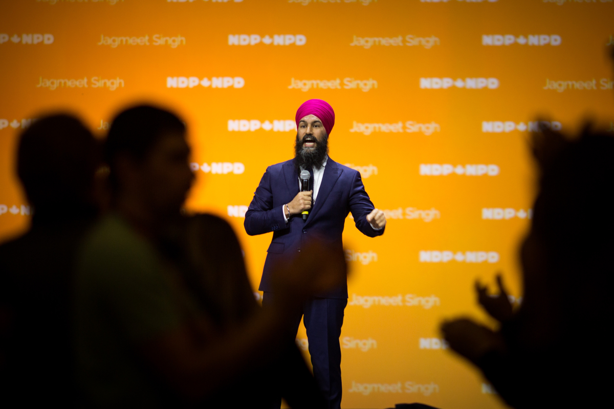
[[0, 247], [0, 396], [15, 407], [71, 406], [71, 294], [77, 247], [96, 214], [98, 143], [68, 115], [21, 134], [17, 174], [34, 212]]

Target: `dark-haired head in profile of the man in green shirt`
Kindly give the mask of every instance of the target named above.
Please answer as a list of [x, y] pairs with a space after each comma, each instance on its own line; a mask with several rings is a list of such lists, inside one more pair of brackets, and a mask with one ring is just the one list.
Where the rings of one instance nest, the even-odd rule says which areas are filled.
[[126, 194], [152, 212], [178, 212], [193, 180], [185, 124], [173, 113], [140, 105], [112, 121], [105, 158], [114, 199]]

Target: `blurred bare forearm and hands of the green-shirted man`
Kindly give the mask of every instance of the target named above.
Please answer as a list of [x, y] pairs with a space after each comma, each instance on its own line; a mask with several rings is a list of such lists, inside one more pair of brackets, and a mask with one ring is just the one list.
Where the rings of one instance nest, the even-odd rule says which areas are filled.
[[[198, 329], [210, 332], [206, 320], [184, 323], [169, 331], [158, 332], [136, 343], [145, 361], [183, 396], [200, 399], [228, 385], [246, 370], [258, 369], [262, 364], [284, 356], [288, 342], [292, 341], [288, 337], [289, 323], [303, 300], [317, 292], [336, 288], [347, 280], [343, 253], [315, 241], [307, 243], [306, 248], [295, 259], [284, 260], [276, 266], [273, 286], [278, 296], [270, 307], [235, 331], [209, 337], [207, 343], [194, 336]], [[319, 258], [309, 258], [307, 254], [319, 254]], [[292, 372], [297, 368], [288, 369]], [[308, 375], [308, 372], [299, 372], [302, 375], [296, 372], [295, 375], [303, 378]], [[289, 398], [300, 400], [297, 394], [309, 393], [310, 388], [297, 387], [292, 384], [293, 381], [286, 383], [284, 388]], [[317, 389], [311, 388], [311, 391]], [[312, 398], [314, 403], [319, 401]]]

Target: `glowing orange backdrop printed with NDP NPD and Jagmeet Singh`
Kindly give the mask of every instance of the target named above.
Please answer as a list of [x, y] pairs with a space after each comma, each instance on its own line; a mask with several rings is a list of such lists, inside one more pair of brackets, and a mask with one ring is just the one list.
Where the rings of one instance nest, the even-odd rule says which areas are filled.
[[378, 239], [346, 224], [343, 406], [502, 407], [438, 323], [484, 318], [473, 281], [497, 271], [518, 303], [527, 132], [538, 114], [562, 131], [612, 118], [612, 17], [612, 0], [3, 1], [0, 237], [28, 224], [14, 150], [36, 115], [68, 109], [102, 135], [153, 101], [188, 124], [188, 208], [230, 221], [256, 288], [271, 237], [248, 237], [244, 212], [292, 157], [298, 105], [325, 99], [330, 156], [388, 219]]

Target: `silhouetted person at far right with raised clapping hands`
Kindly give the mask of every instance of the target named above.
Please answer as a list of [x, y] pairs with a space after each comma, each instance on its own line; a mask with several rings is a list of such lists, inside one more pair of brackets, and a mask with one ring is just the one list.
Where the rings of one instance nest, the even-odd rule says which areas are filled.
[[[451, 348], [480, 367], [515, 408], [600, 407], [612, 365], [614, 138], [586, 129], [576, 140], [534, 135], [541, 170], [529, 235], [521, 248], [524, 294], [513, 312], [502, 280], [478, 299], [501, 323], [444, 323]], [[604, 372], [606, 369], [606, 372]]]

